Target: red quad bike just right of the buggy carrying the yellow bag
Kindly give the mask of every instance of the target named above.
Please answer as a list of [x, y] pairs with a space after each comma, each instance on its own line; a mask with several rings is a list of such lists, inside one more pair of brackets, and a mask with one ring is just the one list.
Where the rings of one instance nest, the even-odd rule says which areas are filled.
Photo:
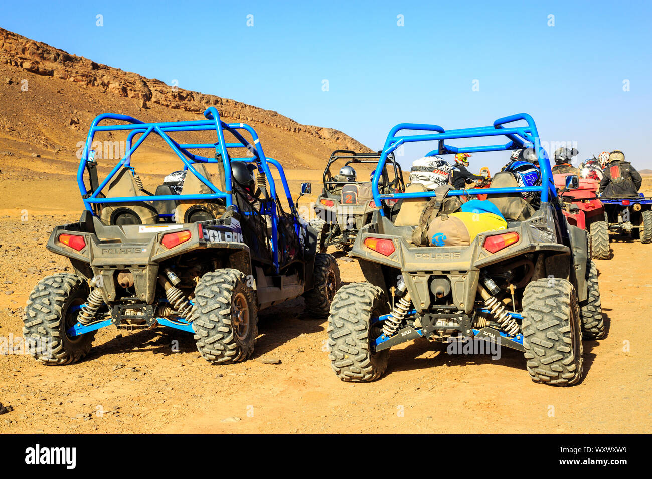
[[589, 237], [589, 251], [595, 259], [609, 259], [609, 225], [604, 221], [604, 205], [597, 197], [600, 182], [579, 178], [576, 190], [566, 190], [563, 173], [553, 175], [559, 199], [563, 201], [563, 214], [569, 224], [584, 229]]

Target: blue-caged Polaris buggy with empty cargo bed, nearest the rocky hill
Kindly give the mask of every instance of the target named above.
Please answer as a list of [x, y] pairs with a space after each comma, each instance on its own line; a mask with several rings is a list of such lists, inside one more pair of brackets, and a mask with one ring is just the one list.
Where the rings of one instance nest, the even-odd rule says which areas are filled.
[[[96, 331], [110, 325], [161, 325], [194, 334], [201, 356], [213, 364], [236, 362], [254, 351], [259, 310], [303, 295], [310, 313], [328, 314], [338, 267], [331, 255], [316, 252], [318, 232], [299, 220], [282, 167], [265, 156], [251, 126], [224, 123], [213, 107], [204, 116], [142, 123], [105, 113], [93, 121], [78, 170], [85, 210], [79, 222], [55, 227], [47, 245], [69, 257], [74, 272], [38, 282], [25, 307], [23, 335], [37, 360], [76, 362], [89, 353]], [[105, 120], [113, 124], [100, 125]], [[200, 131], [216, 132], [216, 141], [171, 138]], [[91, 150], [96, 132], [128, 134], [125, 157], [102, 182]], [[227, 143], [225, 133], [235, 141]], [[131, 166], [149, 136], [163, 139], [183, 162], [180, 193], [172, 188], [178, 184], [165, 183], [149, 193]], [[248, 156], [231, 156], [238, 148]], [[211, 150], [214, 157], [190, 152]], [[255, 188], [237, 181], [237, 162], [257, 171], [256, 181], [250, 174]]]

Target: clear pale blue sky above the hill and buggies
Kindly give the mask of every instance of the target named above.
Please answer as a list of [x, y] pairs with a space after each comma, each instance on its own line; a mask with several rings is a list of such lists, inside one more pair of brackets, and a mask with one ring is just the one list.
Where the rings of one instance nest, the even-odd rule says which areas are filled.
[[21, 35], [374, 149], [396, 123], [483, 126], [525, 111], [543, 141], [576, 142], [581, 159], [621, 149], [639, 169], [652, 168], [651, 22], [649, 1], [0, 5], [0, 26]]

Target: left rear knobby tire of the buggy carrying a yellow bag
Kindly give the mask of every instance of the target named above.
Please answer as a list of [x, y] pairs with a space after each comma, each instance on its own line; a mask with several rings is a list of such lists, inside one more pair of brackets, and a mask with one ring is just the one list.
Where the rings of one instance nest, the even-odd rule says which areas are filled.
[[371, 319], [389, 313], [385, 293], [370, 283], [344, 285], [331, 304], [328, 325], [331, 368], [342, 381], [368, 383], [387, 369], [389, 349], [370, 350], [370, 340], [381, 334], [381, 323]]

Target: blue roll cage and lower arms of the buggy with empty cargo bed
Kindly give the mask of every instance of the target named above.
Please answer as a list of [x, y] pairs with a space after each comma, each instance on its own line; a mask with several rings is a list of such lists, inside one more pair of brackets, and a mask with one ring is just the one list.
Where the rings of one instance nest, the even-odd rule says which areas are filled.
[[[220, 119], [220, 114], [217, 109], [213, 106], [207, 108], [203, 112], [205, 120], [196, 120], [196, 121], [171, 121], [171, 122], [160, 122], [160, 123], [144, 123], [136, 118], [130, 117], [128, 115], [119, 115], [115, 113], [102, 113], [98, 115], [93, 120], [91, 128], [89, 129], [88, 135], [86, 137], [86, 143], [82, 152], [82, 160], [80, 161], [80, 166], [77, 170], [77, 184], [82, 194], [82, 199], [84, 207], [86, 210], [95, 215], [92, 205], [102, 205], [108, 203], [144, 203], [149, 201], [179, 201], [185, 199], [201, 199], [201, 200], [210, 200], [223, 198], [226, 202], [227, 207], [233, 206], [233, 184], [231, 181], [231, 168], [229, 162], [231, 161], [241, 161], [247, 163], [256, 163], [259, 173], [264, 173], [267, 177], [267, 184], [269, 184], [269, 194], [271, 197], [271, 207], [266, 207], [260, 214], [271, 216], [272, 222], [272, 254], [273, 254], [273, 263], [274, 270], [278, 273], [278, 240], [276, 237], [276, 231], [278, 227], [278, 212], [276, 210], [276, 184], [274, 183], [274, 177], [272, 176], [271, 170], [269, 169], [269, 164], [274, 166], [280, 175], [281, 182], [283, 184], [284, 192], [286, 198], [288, 199], [289, 209], [293, 215], [297, 216], [297, 211], [295, 205], [292, 201], [292, 196], [289, 191], [288, 181], [283, 171], [283, 167], [280, 163], [274, 158], [267, 158], [265, 152], [263, 152], [263, 147], [260, 144], [258, 134], [252, 126], [246, 123], [224, 123]], [[113, 125], [100, 125], [104, 120], [117, 120], [125, 121], [128, 124], [113, 124]], [[192, 132], [192, 131], [210, 131], [215, 130], [217, 134], [217, 141], [215, 143], [188, 143], [188, 144], [179, 144], [168, 135], [169, 132]], [[233, 134], [233, 136], [239, 141], [239, 143], [226, 143], [224, 139], [224, 130]], [[252, 136], [252, 143], [247, 141], [237, 130], [245, 130]], [[109, 175], [98, 185], [97, 189], [89, 194], [89, 190], [86, 188], [84, 183], [84, 171], [87, 171], [87, 164], [95, 162], [94, 154], [92, 153], [93, 139], [95, 138], [96, 132], [111, 132], [111, 131], [130, 131], [127, 140], [126, 140], [126, 153], [123, 158], [118, 162], [113, 169], [111, 169]], [[104, 187], [111, 181], [111, 178], [119, 171], [123, 166], [131, 166], [131, 156], [134, 152], [140, 147], [140, 145], [145, 141], [149, 134], [155, 133], [160, 136], [168, 144], [173, 152], [181, 159], [183, 162], [184, 171], [190, 170], [190, 172], [195, 175], [205, 186], [213, 191], [212, 194], [192, 194], [192, 195], [154, 195], [154, 196], [128, 196], [128, 197], [111, 197], [111, 198], [100, 198], [98, 194], [104, 189]], [[140, 134], [140, 138], [136, 139], [136, 142], [133, 143], [134, 138]], [[254, 155], [253, 158], [231, 158], [228, 155], [228, 149], [231, 148], [246, 148]], [[225, 187], [226, 192], [220, 191], [213, 182], [209, 181], [207, 178], [204, 178], [193, 166], [194, 163], [216, 163], [220, 160], [216, 158], [207, 158], [205, 156], [200, 156], [192, 154], [188, 149], [215, 149], [216, 152], [221, 154], [222, 165], [224, 166], [224, 177], [225, 177]], [[90, 184], [90, 179], [89, 179]], [[295, 222], [295, 229], [297, 229], [297, 235], [300, 234], [299, 228], [301, 226], [298, 222]], [[83, 306], [83, 305], [82, 305]], [[77, 306], [74, 310], [79, 310], [82, 306]], [[170, 319], [157, 317], [156, 321], [164, 326], [181, 329], [187, 332], [194, 332], [192, 325], [183, 321], [183, 319], [178, 319], [177, 321], [171, 321]], [[98, 330], [100, 328], [109, 326], [111, 324], [110, 319], [104, 319], [100, 321], [95, 321], [89, 325], [82, 325], [81, 323], [76, 323], [76, 325], [68, 328], [67, 333], [69, 336], [80, 336], [81, 334]]]

